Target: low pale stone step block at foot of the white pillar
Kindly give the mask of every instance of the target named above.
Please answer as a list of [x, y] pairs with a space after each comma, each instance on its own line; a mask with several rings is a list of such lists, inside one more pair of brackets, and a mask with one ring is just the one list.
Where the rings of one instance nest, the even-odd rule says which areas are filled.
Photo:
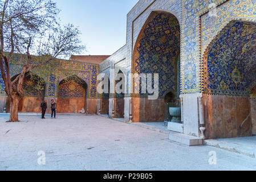
[[187, 146], [201, 146], [204, 144], [204, 140], [202, 138], [184, 135], [180, 133], [170, 134], [169, 139], [173, 142], [182, 143]]

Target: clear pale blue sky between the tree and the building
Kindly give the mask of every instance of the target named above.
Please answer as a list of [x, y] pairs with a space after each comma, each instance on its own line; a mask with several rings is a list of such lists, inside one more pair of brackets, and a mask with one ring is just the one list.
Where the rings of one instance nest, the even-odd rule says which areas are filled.
[[82, 32], [82, 55], [112, 55], [126, 43], [127, 14], [139, 0], [55, 0], [62, 24]]

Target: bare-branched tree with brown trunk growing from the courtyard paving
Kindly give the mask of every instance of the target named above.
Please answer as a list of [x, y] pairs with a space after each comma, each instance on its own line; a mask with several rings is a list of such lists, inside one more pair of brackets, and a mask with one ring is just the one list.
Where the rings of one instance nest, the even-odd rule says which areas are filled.
[[[5, 0], [0, 19], [0, 70], [7, 96], [18, 107], [23, 97], [26, 75], [40, 67], [50, 68], [56, 59], [80, 53], [85, 49], [80, 31], [72, 24], [60, 26], [59, 9], [52, 0]], [[14, 57], [18, 59], [14, 60]], [[10, 64], [21, 68], [11, 78]], [[47, 71], [47, 69], [43, 69]], [[12, 111], [13, 110], [13, 111]], [[18, 121], [18, 108], [11, 109], [10, 121]], [[17, 117], [13, 117], [17, 115]]]

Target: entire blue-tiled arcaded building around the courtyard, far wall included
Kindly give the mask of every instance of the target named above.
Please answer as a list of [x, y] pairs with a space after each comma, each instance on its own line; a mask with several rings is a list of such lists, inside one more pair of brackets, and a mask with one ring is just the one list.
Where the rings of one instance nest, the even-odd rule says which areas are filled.
[[[212, 2], [218, 10], [214, 16], [208, 6]], [[140, 0], [127, 15], [123, 47], [111, 56], [72, 55], [60, 60], [63, 69], [76, 71], [75, 76], [36, 73], [44, 80], [40, 92], [30, 93], [33, 83], [27, 78], [19, 111], [38, 112], [35, 105], [54, 98], [60, 113], [84, 108], [88, 114], [124, 122], [166, 121], [169, 129], [174, 108], [180, 114], [175, 123], [180, 133], [206, 139], [255, 135], [255, 19], [252, 0]], [[20, 71], [11, 68], [12, 76]], [[108, 93], [97, 93], [99, 73], [108, 80]], [[159, 74], [159, 95], [149, 100], [141, 79], [136, 82], [132, 74], [154, 73]], [[154, 79], [147, 88], [153, 88]], [[8, 111], [3, 88], [0, 79], [0, 110]], [[115, 93], [117, 88], [123, 92]]]

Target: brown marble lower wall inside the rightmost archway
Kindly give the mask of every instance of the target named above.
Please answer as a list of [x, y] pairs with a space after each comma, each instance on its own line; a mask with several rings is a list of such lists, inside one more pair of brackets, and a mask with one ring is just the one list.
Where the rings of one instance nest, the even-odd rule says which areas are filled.
[[204, 95], [206, 137], [249, 137], [251, 132], [250, 98]]

